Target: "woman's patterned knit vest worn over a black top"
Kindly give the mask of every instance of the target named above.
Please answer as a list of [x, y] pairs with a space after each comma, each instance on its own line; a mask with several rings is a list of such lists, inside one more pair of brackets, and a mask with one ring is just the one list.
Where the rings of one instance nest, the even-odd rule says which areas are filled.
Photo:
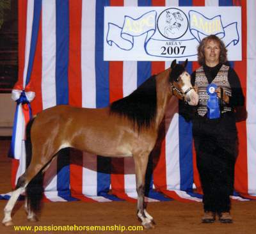
[[[218, 74], [216, 77], [213, 79], [212, 84], [216, 84], [218, 87], [222, 87], [226, 95], [229, 97], [232, 96], [231, 93], [231, 87], [228, 82], [228, 69], [229, 66], [222, 65]], [[195, 79], [195, 86], [198, 87], [198, 95], [199, 95], [199, 104], [198, 104], [198, 109], [197, 113], [200, 116], [204, 116], [207, 113], [207, 100], [209, 98], [209, 95], [207, 94], [207, 86], [209, 85], [207, 81], [207, 77], [205, 76], [204, 73], [204, 68], [201, 66], [196, 70], [196, 79]], [[231, 108], [226, 105], [225, 102], [222, 103], [222, 109], [221, 113], [225, 113], [227, 111], [231, 111]]]

